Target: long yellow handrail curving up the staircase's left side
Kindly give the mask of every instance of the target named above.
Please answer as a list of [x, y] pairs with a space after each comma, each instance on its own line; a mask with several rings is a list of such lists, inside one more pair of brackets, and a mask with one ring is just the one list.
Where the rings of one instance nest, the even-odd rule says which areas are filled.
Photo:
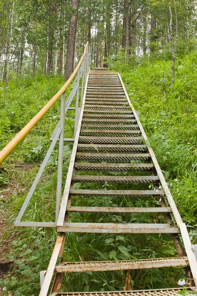
[[36, 123], [46, 114], [47, 111], [56, 103], [56, 101], [60, 98], [60, 96], [66, 91], [66, 88], [74, 78], [75, 74], [79, 70], [79, 67], [81, 66], [81, 63], [83, 62], [83, 59], [86, 55], [86, 49], [89, 42], [86, 43], [86, 46], [84, 48], [83, 55], [70, 75], [70, 77], [67, 79], [66, 83], [63, 85], [63, 87], [53, 96], [53, 98], [22, 128], [22, 130], [16, 134], [16, 136], [0, 151], [0, 164], [5, 160], [5, 158], [14, 150], [14, 148], [27, 136], [27, 134], [33, 129], [33, 127], [36, 125]]

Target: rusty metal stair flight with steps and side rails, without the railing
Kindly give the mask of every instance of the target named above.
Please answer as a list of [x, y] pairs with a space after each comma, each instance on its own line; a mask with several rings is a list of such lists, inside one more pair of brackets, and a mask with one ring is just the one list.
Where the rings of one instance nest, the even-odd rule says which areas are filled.
[[[117, 172], [116, 175], [111, 173]], [[82, 187], [74, 189], [74, 184]], [[92, 189], [86, 189], [93, 184]], [[102, 189], [103, 184], [115, 184], [116, 189]], [[116, 185], [117, 184], [117, 185]], [[127, 189], [119, 189], [119, 185]], [[94, 189], [100, 185], [100, 189]], [[151, 187], [151, 188], [150, 188]], [[121, 200], [148, 197], [160, 201], [160, 207], [93, 207], [72, 206], [77, 199], [113, 197]], [[165, 223], [100, 223], [68, 221], [69, 213], [158, 213]], [[172, 296], [177, 289], [122, 291], [122, 292], [60, 292], [64, 273], [85, 271], [112, 271], [183, 266], [190, 287], [197, 286], [197, 261], [186, 225], [182, 222], [170, 194], [155, 154], [148, 142], [136, 111], [128, 97], [119, 74], [93, 70], [88, 74], [81, 113], [76, 130], [65, 190], [57, 221], [59, 236], [41, 287], [40, 296], [46, 296], [55, 272], [51, 296], [118, 295], [118, 296]], [[158, 258], [121, 261], [67, 262], [63, 259], [66, 232], [83, 233], [170, 233], [177, 250], [176, 258]], [[183, 247], [184, 245], [184, 247]], [[80, 246], [79, 246], [80, 247]], [[58, 257], [61, 258], [57, 264]], [[191, 289], [191, 288], [190, 288]]]

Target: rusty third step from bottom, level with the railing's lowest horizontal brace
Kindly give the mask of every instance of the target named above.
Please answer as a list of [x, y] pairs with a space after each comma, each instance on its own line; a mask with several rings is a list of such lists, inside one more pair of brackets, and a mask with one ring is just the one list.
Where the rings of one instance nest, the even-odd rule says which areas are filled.
[[64, 223], [58, 232], [78, 233], [180, 233], [178, 227], [167, 223]]

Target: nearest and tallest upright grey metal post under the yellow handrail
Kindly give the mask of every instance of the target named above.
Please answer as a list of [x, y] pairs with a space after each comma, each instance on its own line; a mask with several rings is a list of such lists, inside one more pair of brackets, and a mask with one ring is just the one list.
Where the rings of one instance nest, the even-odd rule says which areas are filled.
[[56, 222], [58, 220], [61, 198], [62, 198], [62, 175], [63, 175], [63, 152], [64, 152], [64, 131], [65, 131], [65, 101], [66, 92], [61, 96], [61, 110], [60, 110], [60, 128], [62, 132], [59, 140], [58, 153], [58, 179], [57, 179], [57, 194], [56, 194]]

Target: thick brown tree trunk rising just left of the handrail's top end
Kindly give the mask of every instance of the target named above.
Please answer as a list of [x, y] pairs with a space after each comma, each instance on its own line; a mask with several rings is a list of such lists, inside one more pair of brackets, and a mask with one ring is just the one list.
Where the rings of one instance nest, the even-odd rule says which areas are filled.
[[65, 80], [67, 80], [69, 76], [72, 74], [74, 67], [74, 48], [77, 29], [78, 6], [79, 0], [71, 0], [72, 15], [70, 18], [68, 29]]

